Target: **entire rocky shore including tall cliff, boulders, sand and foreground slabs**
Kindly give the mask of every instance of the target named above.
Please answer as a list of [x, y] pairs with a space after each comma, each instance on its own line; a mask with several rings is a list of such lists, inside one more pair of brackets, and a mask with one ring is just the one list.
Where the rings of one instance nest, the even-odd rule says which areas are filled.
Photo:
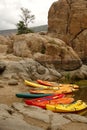
[[48, 12], [48, 32], [0, 36], [0, 130], [87, 129], [81, 113], [54, 113], [15, 96], [29, 91], [25, 79], [87, 80], [86, 5], [56, 1]]

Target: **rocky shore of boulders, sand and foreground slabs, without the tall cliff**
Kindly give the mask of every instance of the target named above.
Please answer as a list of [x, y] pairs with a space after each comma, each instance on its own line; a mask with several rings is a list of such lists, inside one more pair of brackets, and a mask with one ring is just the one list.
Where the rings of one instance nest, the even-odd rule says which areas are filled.
[[[28, 92], [25, 79], [54, 82], [65, 78], [87, 79], [87, 66], [74, 50], [59, 39], [40, 34], [1, 36], [1, 41], [0, 130], [86, 130], [87, 118], [84, 116], [27, 106], [23, 99], [15, 96]], [[73, 59], [77, 61], [74, 64]]]

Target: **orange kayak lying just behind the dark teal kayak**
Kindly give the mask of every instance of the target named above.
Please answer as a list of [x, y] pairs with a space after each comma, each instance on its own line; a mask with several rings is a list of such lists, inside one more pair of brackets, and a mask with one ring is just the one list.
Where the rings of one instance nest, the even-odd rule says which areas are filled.
[[49, 90], [49, 89], [44, 89], [44, 90], [40, 90], [40, 89], [37, 89], [37, 90], [34, 90], [34, 89], [30, 89], [29, 92], [30, 93], [49, 93], [49, 94], [61, 94], [61, 93], [72, 93], [73, 91], [76, 91], [76, 89], [72, 89], [70, 87], [61, 87], [59, 90]]

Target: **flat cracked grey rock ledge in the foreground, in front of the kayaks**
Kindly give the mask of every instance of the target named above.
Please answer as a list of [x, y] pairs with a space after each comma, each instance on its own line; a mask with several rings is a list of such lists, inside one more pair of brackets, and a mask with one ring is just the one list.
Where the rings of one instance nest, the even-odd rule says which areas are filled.
[[70, 130], [87, 129], [87, 118], [75, 114], [59, 114], [24, 103], [10, 107], [0, 104], [0, 130]]

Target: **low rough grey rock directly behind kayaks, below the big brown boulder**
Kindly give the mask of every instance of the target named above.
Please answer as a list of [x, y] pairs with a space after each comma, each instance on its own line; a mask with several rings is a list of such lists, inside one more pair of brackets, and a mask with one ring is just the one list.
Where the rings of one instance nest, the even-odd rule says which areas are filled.
[[24, 59], [18, 61], [5, 61], [6, 70], [2, 77], [10, 80], [9, 84], [17, 84], [14, 80], [49, 80], [57, 81], [61, 74], [55, 69], [47, 68], [33, 59]]

